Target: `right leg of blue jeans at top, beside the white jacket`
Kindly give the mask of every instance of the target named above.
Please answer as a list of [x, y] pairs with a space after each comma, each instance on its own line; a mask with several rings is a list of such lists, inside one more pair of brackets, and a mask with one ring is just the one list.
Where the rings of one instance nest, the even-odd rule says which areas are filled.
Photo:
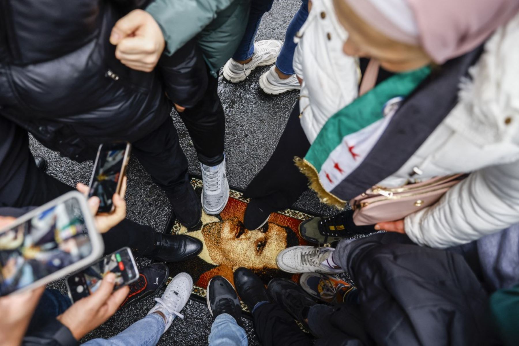
[[292, 67], [292, 61], [294, 60], [294, 52], [296, 44], [294, 43], [295, 34], [301, 29], [301, 26], [305, 23], [308, 18], [308, 0], [303, 0], [301, 7], [295, 13], [294, 18], [286, 28], [285, 41], [281, 52], [279, 53], [278, 59], [276, 60], [276, 66], [278, 70], [285, 75], [293, 75], [294, 68]]

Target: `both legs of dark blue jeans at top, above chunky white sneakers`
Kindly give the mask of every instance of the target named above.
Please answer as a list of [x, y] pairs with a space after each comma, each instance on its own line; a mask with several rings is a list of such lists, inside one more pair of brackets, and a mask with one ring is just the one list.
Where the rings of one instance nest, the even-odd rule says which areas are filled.
[[[254, 38], [256, 37], [258, 27], [260, 27], [263, 15], [272, 8], [272, 3], [274, 3], [274, 0], [252, 0], [249, 21], [240, 45], [233, 55], [234, 60], [242, 61], [252, 57], [254, 54]], [[286, 75], [294, 74], [294, 68], [292, 67], [296, 47], [294, 36], [301, 29], [306, 18], [308, 18], [308, 0], [302, 0], [301, 7], [299, 7], [288, 28], [286, 28], [285, 41], [276, 60], [278, 70]]]

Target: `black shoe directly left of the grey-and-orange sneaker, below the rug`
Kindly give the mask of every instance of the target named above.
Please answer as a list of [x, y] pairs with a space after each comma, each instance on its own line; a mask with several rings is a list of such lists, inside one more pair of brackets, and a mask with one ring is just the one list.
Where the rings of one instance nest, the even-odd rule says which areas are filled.
[[270, 280], [267, 287], [270, 301], [279, 305], [297, 321], [307, 326], [304, 311], [316, 305], [310, 296], [295, 282], [288, 279], [275, 278]]

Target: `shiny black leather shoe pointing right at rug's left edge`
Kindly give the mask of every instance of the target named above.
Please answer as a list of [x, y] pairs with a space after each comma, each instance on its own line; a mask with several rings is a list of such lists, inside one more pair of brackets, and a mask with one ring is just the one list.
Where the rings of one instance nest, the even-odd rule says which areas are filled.
[[184, 234], [159, 234], [157, 242], [160, 244], [146, 257], [164, 262], [180, 262], [193, 258], [202, 251], [203, 244], [196, 238]]

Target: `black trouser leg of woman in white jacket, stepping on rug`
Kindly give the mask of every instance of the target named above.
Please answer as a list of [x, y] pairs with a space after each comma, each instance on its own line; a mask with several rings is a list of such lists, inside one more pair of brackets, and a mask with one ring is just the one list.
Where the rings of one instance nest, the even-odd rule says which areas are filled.
[[308, 188], [308, 179], [294, 164], [294, 156], [303, 158], [309, 148], [310, 142], [299, 122], [297, 102], [274, 154], [252, 179], [244, 196], [261, 202], [270, 211], [290, 207]]

